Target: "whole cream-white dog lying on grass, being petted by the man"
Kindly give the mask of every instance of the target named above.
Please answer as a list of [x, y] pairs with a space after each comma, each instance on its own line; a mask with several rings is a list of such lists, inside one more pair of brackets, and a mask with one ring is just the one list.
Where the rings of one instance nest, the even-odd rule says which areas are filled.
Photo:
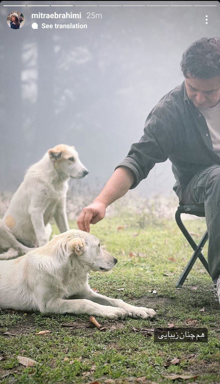
[[[147, 319], [156, 312], [95, 293], [88, 272], [109, 271], [117, 259], [90, 233], [69, 230], [43, 247], [0, 261], [0, 308]], [[68, 300], [69, 299], [69, 300]]]

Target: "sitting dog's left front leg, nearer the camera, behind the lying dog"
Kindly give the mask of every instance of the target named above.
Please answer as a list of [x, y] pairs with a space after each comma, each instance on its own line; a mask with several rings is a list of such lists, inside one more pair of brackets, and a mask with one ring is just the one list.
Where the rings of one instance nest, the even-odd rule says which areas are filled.
[[48, 235], [46, 234], [43, 212], [40, 208], [30, 207], [29, 214], [33, 224], [36, 240], [39, 247], [48, 243]]

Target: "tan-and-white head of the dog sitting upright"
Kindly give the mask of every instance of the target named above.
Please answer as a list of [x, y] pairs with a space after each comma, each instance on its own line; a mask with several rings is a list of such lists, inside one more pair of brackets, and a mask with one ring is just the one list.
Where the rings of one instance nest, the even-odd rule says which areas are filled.
[[73, 179], [81, 179], [89, 173], [79, 160], [79, 155], [74, 147], [60, 144], [49, 149], [48, 155], [54, 168], [60, 174]]

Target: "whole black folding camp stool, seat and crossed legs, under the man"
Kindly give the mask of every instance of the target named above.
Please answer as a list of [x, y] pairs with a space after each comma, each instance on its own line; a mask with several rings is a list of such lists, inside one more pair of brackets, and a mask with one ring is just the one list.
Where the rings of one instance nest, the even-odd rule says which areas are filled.
[[208, 233], [207, 231], [204, 233], [202, 239], [200, 240], [199, 245], [197, 245], [193, 238], [190, 236], [189, 232], [187, 231], [185, 225], [183, 224], [181, 220], [181, 214], [189, 214], [189, 215], [195, 215], [195, 216], [200, 216], [200, 217], [205, 217], [205, 210], [204, 207], [199, 207], [197, 205], [179, 205], [176, 211], [176, 222], [184, 236], [186, 237], [186, 240], [189, 242], [191, 245], [192, 249], [194, 250], [194, 253], [192, 257], [189, 260], [189, 263], [187, 264], [186, 268], [184, 269], [182, 275], [180, 276], [179, 280], [177, 281], [176, 288], [180, 287], [183, 285], [184, 281], [186, 280], [190, 270], [192, 269], [192, 266], [195, 263], [195, 260], [197, 257], [199, 257], [200, 262], [204, 265], [205, 269], [210, 275], [209, 272], [209, 265], [207, 260], [204, 258], [202, 254], [202, 248], [204, 247], [205, 243], [207, 242], [208, 239]]

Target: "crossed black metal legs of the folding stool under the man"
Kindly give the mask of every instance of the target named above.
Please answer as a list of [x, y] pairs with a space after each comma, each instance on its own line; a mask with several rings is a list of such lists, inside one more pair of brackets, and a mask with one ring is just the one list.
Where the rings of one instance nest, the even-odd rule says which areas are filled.
[[183, 222], [181, 220], [181, 212], [179, 212], [179, 210], [177, 210], [175, 218], [176, 218], [177, 225], [180, 228], [181, 232], [186, 237], [186, 239], [189, 242], [189, 244], [191, 245], [192, 249], [195, 251], [193, 253], [192, 257], [190, 258], [190, 261], [187, 264], [185, 270], [183, 271], [181, 277], [179, 278], [179, 280], [177, 282], [176, 287], [178, 288], [186, 280], [186, 278], [187, 278], [187, 276], [189, 274], [189, 271], [192, 269], [192, 266], [194, 265], [195, 260], [197, 259], [197, 257], [199, 257], [200, 261], [204, 265], [204, 267], [207, 270], [207, 272], [209, 273], [209, 275], [210, 275], [210, 271], [209, 271], [208, 262], [205, 259], [205, 257], [202, 255], [202, 252], [201, 252], [202, 248], [204, 247], [204, 245], [205, 245], [205, 243], [207, 242], [207, 239], [208, 239], [207, 231], [205, 232], [204, 236], [202, 237], [202, 240], [200, 241], [199, 245], [197, 246], [197, 244], [194, 242], [193, 238], [190, 236], [189, 232], [187, 231], [185, 225], [183, 224]]

